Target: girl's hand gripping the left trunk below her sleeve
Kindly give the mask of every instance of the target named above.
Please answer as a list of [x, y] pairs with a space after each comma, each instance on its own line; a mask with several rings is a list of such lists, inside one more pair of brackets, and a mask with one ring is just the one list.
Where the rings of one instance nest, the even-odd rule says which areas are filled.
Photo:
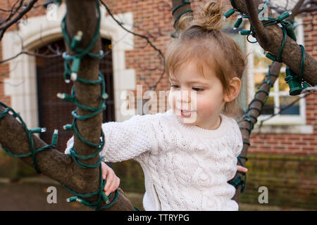
[[106, 195], [110, 195], [113, 191], [116, 191], [120, 184], [120, 178], [116, 176], [111, 167], [108, 167], [106, 163], [101, 162], [102, 179], [106, 179], [106, 185], [104, 186], [104, 192]]

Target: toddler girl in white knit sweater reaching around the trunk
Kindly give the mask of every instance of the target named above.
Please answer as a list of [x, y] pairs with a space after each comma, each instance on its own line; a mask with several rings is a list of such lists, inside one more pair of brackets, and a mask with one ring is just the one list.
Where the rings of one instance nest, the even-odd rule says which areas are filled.
[[[143, 169], [144, 210], [238, 210], [228, 181], [243, 145], [233, 117], [244, 58], [221, 19], [220, 1], [207, 3], [200, 20], [180, 18], [184, 30], [166, 51], [170, 110], [102, 124], [106, 162], [134, 159]], [[69, 153], [73, 138], [67, 145]], [[102, 168], [108, 195], [120, 180]]]

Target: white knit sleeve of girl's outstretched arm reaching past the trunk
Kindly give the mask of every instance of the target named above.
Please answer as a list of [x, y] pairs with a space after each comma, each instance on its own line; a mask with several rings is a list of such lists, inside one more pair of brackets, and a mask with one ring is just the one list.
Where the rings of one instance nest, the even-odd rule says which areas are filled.
[[[106, 162], [130, 160], [147, 151], [157, 149], [154, 115], [135, 115], [124, 122], [106, 122], [101, 125], [105, 144], [100, 155]], [[73, 146], [74, 137], [68, 140], [65, 153]]]

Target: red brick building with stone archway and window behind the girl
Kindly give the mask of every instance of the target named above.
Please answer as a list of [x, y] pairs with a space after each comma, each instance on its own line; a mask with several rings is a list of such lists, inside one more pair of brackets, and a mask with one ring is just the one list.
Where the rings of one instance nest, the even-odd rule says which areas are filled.
[[[1, 0], [1, 6], [7, 2]], [[13, 4], [13, 1], [9, 2]], [[47, 11], [40, 6], [44, 2], [39, 1], [39, 7], [27, 14], [27, 19], [19, 24], [18, 32], [16, 27], [11, 27], [1, 40], [0, 60], [20, 53], [21, 43], [25, 51], [36, 52], [38, 56], [21, 54], [6, 63], [0, 63], [0, 101], [19, 112], [28, 127], [46, 127], [47, 132], [42, 134], [42, 138], [48, 142], [51, 132], [59, 129], [62, 138], [58, 141], [58, 147], [62, 150], [66, 140], [72, 135], [68, 131], [62, 131], [62, 126], [71, 121], [70, 111], [74, 108], [73, 105], [58, 100], [56, 93], [69, 93], [71, 84], [66, 84], [63, 80], [61, 55], [53, 58], [39, 55], [45, 55], [48, 49], [58, 49], [60, 52], [65, 49], [60, 25], [66, 7], [62, 4], [56, 11], [54, 8]], [[172, 39], [170, 34], [174, 31], [170, 1], [105, 2], [125, 28], [146, 35], [158, 49], [165, 51], [167, 41]], [[194, 16], [197, 16], [197, 9], [204, 2], [206, 1], [192, 1]], [[166, 91], [169, 89], [168, 79], [163, 75], [162, 59], [158, 51], [147, 44], [144, 38], [123, 30], [106, 13], [104, 7], [101, 7], [101, 12], [101, 38], [105, 52], [101, 72], [106, 77], [106, 91], [109, 94], [104, 122], [123, 121], [130, 115], [124, 115], [121, 111], [125, 102], [122, 96], [127, 93], [137, 95], [137, 85], [142, 85], [143, 93], [150, 88], [154, 88], [156, 93]], [[0, 12], [0, 18], [3, 15]], [[266, 75], [270, 62], [263, 57], [257, 44], [249, 44], [244, 37], [231, 29], [232, 22], [234, 21], [228, 20], [224, 30], [248, 55], [248, 67], [240, 96], [242, 108], [245, 109], [254, 96], [256, 85]], [[299, 17], [297, 23], [299, 44], [304, 44], [306, 52], [317, 58], [317, 14]], [[288, 95], [288, 85], [285, 85], [282, 77], [285, 77], [285, 68], [281, 70], [280, 80], [275, 82], [260, 121], [278, 113], [280, 108], [298, 98]], [[269, 190], [273, 190], [272, 195], [279, 197], [272, 200], [275, 205], [316, 207], [316, 105], [316, 94], [311, 94], [301, 98], [280, 115], [264, 122], [261, 129], [258, 125], [255, 127], [250, 139], [247, 162], [248, 186], [246, 193], [242, 195], [242, 202], [259, 204], [257, 197], [254, 197], [257, 195], [257, 188], [268, 186]], [[118, 170], [123, 172], [123, 169]], [[294, 194], [292, 188], [295, 186], [299, 187], [298, 193], [302, 197], [299, 200], [289, 200], [290, 195]]]

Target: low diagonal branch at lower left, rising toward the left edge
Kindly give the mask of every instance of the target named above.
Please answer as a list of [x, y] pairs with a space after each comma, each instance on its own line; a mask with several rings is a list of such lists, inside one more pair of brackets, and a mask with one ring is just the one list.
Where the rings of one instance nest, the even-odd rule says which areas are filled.
[[[0, 114], [4, 112], [4, 108], [0, 106]], [[34, 134], [35, 149], [47, 146], [47, 143], [39, 139]], [[30, 144], [27, 139], [27, 134], [23, 129], [22, 124], [15, 120], [11, 115], [5, 115], [0, 120], [0, 143], [14, 154], [30, 153]], [[36, 155], [37, 165], [39, 170], [45, 176], [48, 176], [61, 184], [64, 184], [78, 193], [87, 193], [87, 180], [85, 176], [78, 171], [78, 166], [68, 155], [61, 153], [55, 148], [43, 150]], [[20, 158], [20, 160], [30, 167], [33, 166], [32, 158]], [[98, 175], [97, 175], [98, 176]], [[119, 188], [119, 198], [116, 203], [107, 210], [134, 210], [128, 198]], [[111, 196], [113, 198], [113, 195]], [[112, 200], [112, 198], [110, 200]]]

